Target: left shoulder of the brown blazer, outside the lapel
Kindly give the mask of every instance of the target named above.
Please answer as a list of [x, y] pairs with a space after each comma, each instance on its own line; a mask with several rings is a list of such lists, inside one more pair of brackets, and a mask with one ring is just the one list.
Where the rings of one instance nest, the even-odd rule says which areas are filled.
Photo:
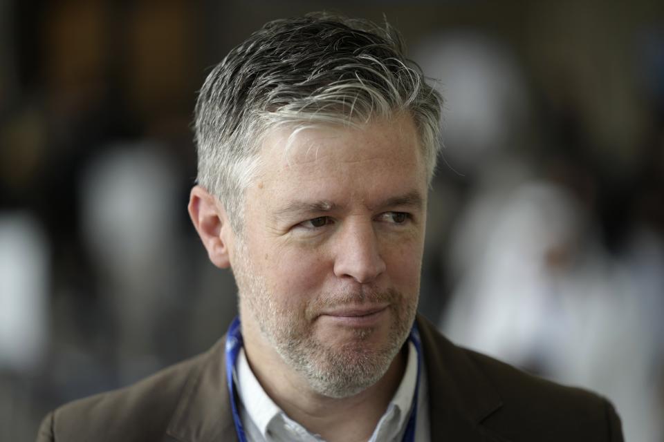
[[160, 440], [188, 382], [208, 353], [167, 367], [120, 390], [82, 398], [50, 412], [37, 441]]

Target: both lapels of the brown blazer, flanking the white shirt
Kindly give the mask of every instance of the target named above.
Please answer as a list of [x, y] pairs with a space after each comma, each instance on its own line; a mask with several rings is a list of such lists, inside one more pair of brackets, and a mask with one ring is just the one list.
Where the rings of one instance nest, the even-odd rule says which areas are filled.
[[[434, 441], [508, 442], [489, 434], [481, 422], [502, 401], [468, 354], [417, 317], [429, 387]], [[225, 336], [196, 364], [167, 428], [165, 441], [237, 441], [226, 387]]]

